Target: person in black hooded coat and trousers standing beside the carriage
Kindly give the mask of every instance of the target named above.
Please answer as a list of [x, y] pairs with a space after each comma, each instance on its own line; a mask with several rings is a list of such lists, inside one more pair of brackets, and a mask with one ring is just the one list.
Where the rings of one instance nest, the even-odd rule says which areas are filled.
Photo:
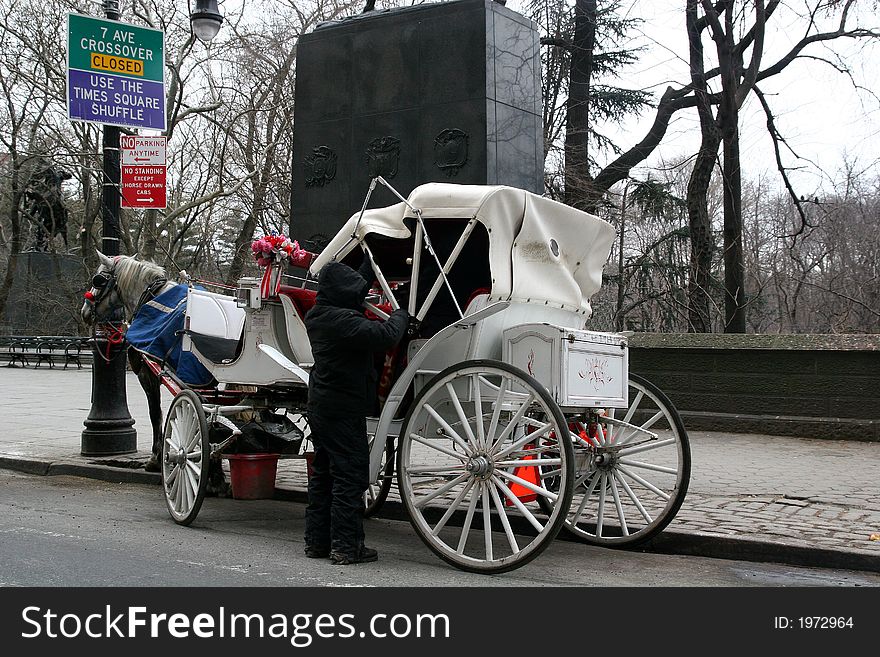
[[[366, 268], [361, 267], [366, 273]], [[369, 275], [372, 280], [372, 275]], [[370, 284], [348, 265], [330, 262], [318, 276], [306, 331], [315, 364], [309, 374], [309, 427], [315, 454], [306, 508], [306, 556], [337, 565], [375, 561], [364, 546], [364, 492], [369, 485], [366, 416], [376, 400], [375, 352], [397, 344], [409, 313], [384, 322], [364, 315]]]

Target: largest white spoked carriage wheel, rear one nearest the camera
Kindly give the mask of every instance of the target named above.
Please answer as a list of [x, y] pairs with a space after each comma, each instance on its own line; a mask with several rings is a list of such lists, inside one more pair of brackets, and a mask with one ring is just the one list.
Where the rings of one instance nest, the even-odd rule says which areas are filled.
[[[400, 497], [416, 533], [462, 570], [528, 563], [571, 506], [568, 436], [559, 407], [522, 370], [472, 360], [440, 372], [410, 407], [398, 443]], [[555, 470], [555, 490], [541, 484], [538, 467]]]

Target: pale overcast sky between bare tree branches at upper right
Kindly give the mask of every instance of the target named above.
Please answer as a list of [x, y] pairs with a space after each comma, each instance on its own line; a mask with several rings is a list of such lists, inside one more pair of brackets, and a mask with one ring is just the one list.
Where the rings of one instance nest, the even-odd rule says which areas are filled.
[[[801, 4], [798, 1], [790, 3], [795, 7]], [[625, 5], [629, 8], [630, 16], [644, 21], [639, 33], [633, 34], [633, 44], [648, 46], [648, 50], [619, 84], [647, 88], [655, 91], [659, 97], [668, 84], [679, 86], [688, 79], [684, 2], [629, 0]], [[515, 8], [514, 0], [508, 6]], [[877, 19], [871, 22], [880, 24]], [[801, 38], [804, 29], [803, 21], [798, 21], [790, 11], [784, 10], [777, 11], [772, 25], [774, 29], [768, 33], [762, 68], [787, 52]], [[779, 29], [780, 26], [785, 29]], [[830, 47], [845, 52], [854, 80], [880, 96], [880, 45], [865, 46], [850, 39], [841, 39], [831, 42]], [[710, 53], [711, 44], [706, 49], [707, 54]], [[808, 52], [829, 56], [829, 49], [824, 46]], [[878, 98], [865, 91], [857, 93], [847, 77], [827, 64], [816, 61], [793, 63], [772, 81], [763, 82], [761, 89], [770, 98], [769, 102], [776, 110], [777, 126], [792, 147], [802, 157], [816, 162], [832, 179], [838, 176], [845, 155], [857, 157], [869, 175], [880, 175]], [[615, 135], [618, 143], [626, 148], [638, 142], [652, 118], [653, 113], [648, 112], [642, 119], [620, 126]], [[773, 173], [776, 170], [765, 122], [760, 103], [752, 96], [743, 108], [741, 119], [741, 151], [747, 178], [755, 178], [762, 171]], [[657, 163], [661, 157], [674, 159], [692, 154], [699, 145], [699, 136], [696, 112], [680, 113], [671, 124], [661, 148], [649, 162]], [[794, 166], [795, 160], [789, 153], [783, 156], [787, 165]], [[798, 193], [812, 194], [829, 187], [827, 178], [815, 167], [810, 169], [810, 172], [791, 174]]]

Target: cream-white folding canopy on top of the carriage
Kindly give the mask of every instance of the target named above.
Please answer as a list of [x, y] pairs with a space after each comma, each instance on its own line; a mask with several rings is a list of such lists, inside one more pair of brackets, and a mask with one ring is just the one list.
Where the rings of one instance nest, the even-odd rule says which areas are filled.
[[[476, 220], [489, 235], [491, 299], [547, 303], [590, 313], [589, 299], [602, 283], [614, 228], [595, 215], [501, 185], [428, 183], [407, 198], [427, 232], [437, 220]], [[317, 274], [342, 259], [368, 235], [409, 239], [407, 203], [353, 215], [311, 266]], [[454, 268], [454, 265], [453, 265]]]

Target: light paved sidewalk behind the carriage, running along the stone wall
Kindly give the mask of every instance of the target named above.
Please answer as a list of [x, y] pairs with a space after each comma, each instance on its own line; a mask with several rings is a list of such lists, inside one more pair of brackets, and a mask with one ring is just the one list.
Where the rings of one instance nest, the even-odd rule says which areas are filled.
[[[146, 398], [127, 374], [137, 454], [80, 456], [91, 369], [0, 367], [0, 468], [159, 483], [147, 473]], [[171, 396], [163, 390], [163, 410]], [[880, 572], [880, 443], [690, 432], [692, 475], [681, 510], [645, 549]], [[157, 491], [157, 496], [161, 495]], [[279, 461], [276, 497], [305, 500], [305, 464]], [[383, 517], [405, 518], [393, 487]], [[566, 538], [563, 531], [561, 539]]]

